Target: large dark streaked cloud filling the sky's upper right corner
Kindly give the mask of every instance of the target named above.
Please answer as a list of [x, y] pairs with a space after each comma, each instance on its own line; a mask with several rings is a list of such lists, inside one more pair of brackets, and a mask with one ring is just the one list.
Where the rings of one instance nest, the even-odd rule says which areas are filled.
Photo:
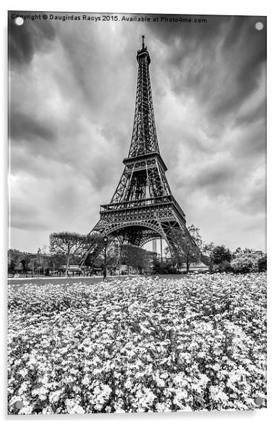
[[[266, 18], [259, 17], [266, 26]], [[165, 66], [179, 96], [194, 94], [212, 119], [239, 108], [258, 88], [266, 61], [266, 30], [258, 17], [210, 17], [207, 24], [157, 24], [151, 32], [169, 46]], [[225, 71], [225, 75], [223, 73]]]

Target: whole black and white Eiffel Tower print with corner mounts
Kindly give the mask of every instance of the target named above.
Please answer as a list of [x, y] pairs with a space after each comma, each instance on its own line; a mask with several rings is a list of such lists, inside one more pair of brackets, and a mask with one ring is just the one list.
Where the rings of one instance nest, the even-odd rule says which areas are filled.
[[266, 409], [266, 33], [8, 11], [9, 415]]

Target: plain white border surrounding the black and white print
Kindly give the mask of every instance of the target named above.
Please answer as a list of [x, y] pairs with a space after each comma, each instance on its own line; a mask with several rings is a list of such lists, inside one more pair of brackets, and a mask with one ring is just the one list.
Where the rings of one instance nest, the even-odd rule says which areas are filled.
[[[2, 255], [1, 255], [1, 272], [2, 279], [2, 310], [1, 323], [2, 326], [2, 345], [1, 345], [1, 418], [10, 425], [19, 421], [42, 420], [51, 422], [52, 425], [64, 424], [68, 421], [80, 423], [82, 421], [90, 421], [95, 425], [121, 425], [132, 423], [132, 425], [145, 424], [161, 424], [166, 425], [169, 422], [175, 422], [176, 425], [254, 425], [261, 426], [262, 422], [266, 425], [274, 425], [277, 418], [275, 412], [278, 391], [277, 391], [277, 287], [278, 282], [275, 279], [275, 263], [277, 263], [277, 28], [278, 28], [278, 10], [275, 1], [270, 0], [231, 0], [214, 1], [214, 0], [194, 0], [191, 3], [185, 1], [172, 0], [167, 3], [151, 3], [149, 0], [140, 0], [138, 2], [131, 1], [62, 1], [48, 0], [35, 1], [7, 1], [1, 2], [1, 30], [3, 41], [1, 48], [3, 50], [1, 66], [1, 82], [3, 85], [2, 93], [7, 96], [7, 10], [59, 10], [59, 11], [82, 11], [82, 12], [132, 12], [132, 13], [183, 13], [188, 15], [267, 15], [268, 16], [268, 409], [257, 411], [241, 411], [241, 412], [196, 412], [196, 413], [170, 413], [170, 414], [92, 414], [86, 416], [61, 415], [61, 416], [6, 416], [6, 249], [8, 246], [7, 239], [2, 237]], [[7, 97], [3, 97], [1, 102], [1, 129], [3, 129], [3, 138], [1, 143], [1, 199], [3, 208], [1, 209], [1, 235], [6, 235], [6, 171], [7, 171]], [[276, 194], [276, 197], [275, 197]], [[276, 199], [275, 199], [276, 198]], [[276, 297], [275, 297], [276, 296]]]

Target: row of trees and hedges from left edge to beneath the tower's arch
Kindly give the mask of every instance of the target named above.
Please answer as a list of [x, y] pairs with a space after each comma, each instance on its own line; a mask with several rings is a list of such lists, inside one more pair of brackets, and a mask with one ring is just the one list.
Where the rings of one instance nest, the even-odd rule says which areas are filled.
[[[8, 273], [33, 272], [33, 275], [50, 275], [51, 272], [64, 268], [67, 275], [72, 265], [80, 264], [85, 270], [103, 270], [104, 246], [103, 236], [98, 233], [83, 235], [76, 232], [53, 232], [50, 234], [48, 253], [46, 246], [39, 248], [35, 254], [8, 250]], [[121, 264], [127, 266], [127, 273], [131, 269], [138, 274], [151, 271], [153, 252], [130, 244], [120, 245], [110, 237], [106, 248], [106, 265], [111, 273], [115, 273]]]

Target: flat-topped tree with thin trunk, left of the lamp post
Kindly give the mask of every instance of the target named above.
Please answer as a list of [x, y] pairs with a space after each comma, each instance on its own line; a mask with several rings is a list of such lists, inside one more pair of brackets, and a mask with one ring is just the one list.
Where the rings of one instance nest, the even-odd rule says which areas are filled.
[[53, 232], [50, 234], [49, 242], [51, 254], [65, 254], [67, 275], [72, 257], [76, 254], [81, 255], [89, 241], [86, 235], [76, 232]]

